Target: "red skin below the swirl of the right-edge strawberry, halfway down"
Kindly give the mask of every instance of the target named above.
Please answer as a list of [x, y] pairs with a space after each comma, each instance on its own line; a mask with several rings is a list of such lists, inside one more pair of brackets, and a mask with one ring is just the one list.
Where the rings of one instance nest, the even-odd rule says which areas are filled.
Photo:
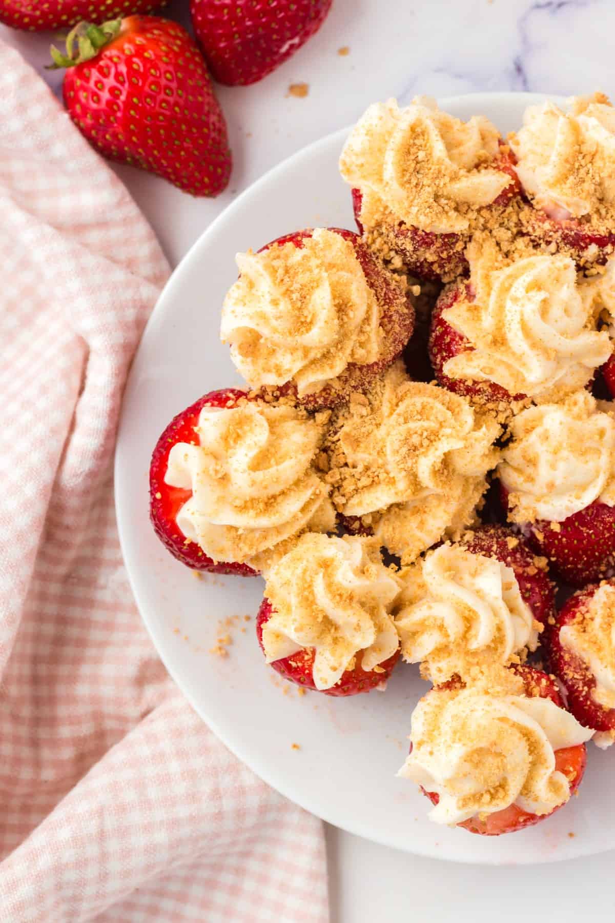
[[[503, 508], [508, 491], [501, 485]], [[527, 541], [549, 558], [550, 569], [564, 583], [583, 587], [612, 576], [615, 570], [615, 508], [596, 500], [562, 522], [539, 520], [524, 525]]]

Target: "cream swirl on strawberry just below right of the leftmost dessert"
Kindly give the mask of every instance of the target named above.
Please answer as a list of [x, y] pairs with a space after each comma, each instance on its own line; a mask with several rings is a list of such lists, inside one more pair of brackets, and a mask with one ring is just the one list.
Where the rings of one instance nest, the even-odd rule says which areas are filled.
[[267, 662], [313, 648], [316, 689], [335, 686], [358, 656], [378, 672], [399, 646], [391, 605], [400, 585], [372, 539], [303, 534], [267, 575]]

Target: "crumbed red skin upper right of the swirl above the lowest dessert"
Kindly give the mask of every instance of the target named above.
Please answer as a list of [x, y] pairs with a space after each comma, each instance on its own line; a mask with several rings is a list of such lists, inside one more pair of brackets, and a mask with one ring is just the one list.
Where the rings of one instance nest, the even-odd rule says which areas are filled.
[[461, 544], [475, 555], [496, 557], [514, 570], [521, 596], [541, 625], [548, 625], [555, 615], [555, 584], [545, 569], [536, 564], [536, 553], [520, 535], [503, 525], [481, 525]]

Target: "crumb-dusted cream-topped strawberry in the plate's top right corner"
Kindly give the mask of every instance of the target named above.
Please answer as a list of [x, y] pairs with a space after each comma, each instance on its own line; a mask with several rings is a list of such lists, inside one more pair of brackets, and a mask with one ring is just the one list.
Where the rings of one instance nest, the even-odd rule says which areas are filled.
[[591, 269], [615, 250], [615, 109], [604, 93], [528, 106], [508, 138], [532, 209], [526, 231]]

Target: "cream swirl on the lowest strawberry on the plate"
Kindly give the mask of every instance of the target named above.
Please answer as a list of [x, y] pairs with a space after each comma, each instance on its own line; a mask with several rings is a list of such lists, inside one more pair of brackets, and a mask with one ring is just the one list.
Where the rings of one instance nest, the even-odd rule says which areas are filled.
[[511, 805], [549, 814], [570, 797], [555, 751], [592, 734], [550, 699], [432, 689], [412, 713], [412, 751], [398, 775], [439, 796], [429, 815], [436, 823]]

